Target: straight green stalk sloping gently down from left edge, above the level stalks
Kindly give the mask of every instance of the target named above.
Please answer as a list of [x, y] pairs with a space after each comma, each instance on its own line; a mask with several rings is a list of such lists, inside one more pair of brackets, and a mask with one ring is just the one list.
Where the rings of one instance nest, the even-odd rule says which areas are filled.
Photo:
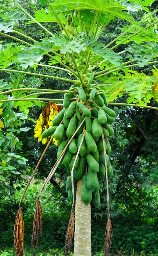
[[58, 77], [58, 76], [49, 76], [49, 75], [44, 75], [44, 74], [31, 73], [31, 72], [20, 71], [20, 70], [7, 70], [7, 69], [0, 68], [0, 71], [15, 72], [15, 73], [27, 74], [27, 75], [33, 75], [33, 76], [49, 77], [49, 78], [52, 78], [52, 79], [57, 79], [57, 80], [60, 80], [60, 81], [66, 81], [66, 82], [69, 82], [69, 83], [77, 83], [77, 84], [80, 83], [78, 80], [66, 79], [66, 78], [62, 78], [62, 77]]

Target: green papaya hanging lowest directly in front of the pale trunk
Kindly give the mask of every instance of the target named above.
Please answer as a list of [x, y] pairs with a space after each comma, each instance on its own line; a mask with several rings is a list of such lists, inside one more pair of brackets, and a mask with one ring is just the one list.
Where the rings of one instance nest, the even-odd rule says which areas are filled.
[[86, 205], [92, 200], [92, 192], [87, 188], [87, 175], [82, 176], [81, 199]]

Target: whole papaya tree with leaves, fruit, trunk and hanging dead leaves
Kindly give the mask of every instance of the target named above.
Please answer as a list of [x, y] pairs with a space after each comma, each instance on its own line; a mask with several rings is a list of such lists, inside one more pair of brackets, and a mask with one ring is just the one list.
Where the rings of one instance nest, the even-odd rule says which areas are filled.
[[[108, 255], [112, 236], [108, 200], [108, 180], [113, 175], [110, 136], [114, 135], [111, 125], [116, 117], [111, 106], [158, 110], [150, 105], [151, 100], [157, 101], [158, 94], [157, 10], [149, 10], [153, 0], [39, 2], [41, 9], [34, 16], [23, 8], [23, 3], [16, 0], [12, 4], [17, 11], [2, 11], [0, 14], [0, 36], [3, 38], [0, 46], [0, 104], [6, 108], [8, 103], [12, 103], [12, 108], [19, 107], [21, 110], [24, 106], [29, 109], [34, 104], [43, 106], [35, 127], [35, 137], [48, 143], [45, 151], [54, 141], [58, 152], [56, 164], [42, 191], [57, 168], [67, 170], [66, 191], [72, 210], [65, 255], [69, 255], [71, 250], [74, 222], [74, 255], [91, 255], [91, 203], [96, 208], [99, 206], [101, 190], [98, 178], [105, 176], [108, 204], [105, 255]], [[140, 13], [140, 20], [135, 20], [135, 12]], [[108, 38], [106, 29], [113, 20], [122, 20], [122, 33], [113, 40], [107, 39], [105, 44], [101, 43], [102, 36]], [[37, 41], [33, 36], [27, 36], [24, 29], [18, 28], [18, 22], [23, 27], [27, 24], [30, 29], [32, 24], [36, 24], [37, 28], [39, 26], [43, 31], [42, 39]], [[51, 31], [52, 23], [56, 23], [56, 33]], [[11, 43], [5, 43], [5, 38], [9, 38]], [[150, 75], [143, 73], [144, 67], [149, 67]], [[41, 73], [43, 68], [45, 74]], [[18, 74], [19, 80], [7, 85], [4, 80], [6, 72]], [[50, 88], [45, 89], [44, 85], [42, 88], [24, 86], [20, 81], [22, 75], [26, 80], [30, 76], [47, 78]], [[66, 90], [55, 90], [52, 81], [62, 81], [62, 88]], [[44, 98], [45, 94], [55, 96]], [[56, 94], [63, 96], [58, 99]], [[124, 94], [127, 95], [127, 102], [118, 103], [117, 98]], [[8, 118], [11, 118], [9, 113]], [[37, 168], [38, 165], [33, 175]], [[38, 244], [42, 225], [39, 197], [33, 222], [33, 247]], [[23, 234], [24, 223], [19, 207], [14, 230], [14, 246], [18, 256], [24, 255]]]

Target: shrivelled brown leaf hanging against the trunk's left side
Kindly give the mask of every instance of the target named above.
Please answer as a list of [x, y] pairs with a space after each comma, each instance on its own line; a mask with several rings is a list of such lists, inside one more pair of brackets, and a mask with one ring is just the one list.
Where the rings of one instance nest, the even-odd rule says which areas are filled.
[[67, 228], [66, 240], [65, 240], [65, 256], [68, 256], [71, 251], [72, 238], [74, 233], [74, 220], [75, 218], [74, 218], [73, 207], [72, 207], [71, 213], [70, 213], [69, 225]]

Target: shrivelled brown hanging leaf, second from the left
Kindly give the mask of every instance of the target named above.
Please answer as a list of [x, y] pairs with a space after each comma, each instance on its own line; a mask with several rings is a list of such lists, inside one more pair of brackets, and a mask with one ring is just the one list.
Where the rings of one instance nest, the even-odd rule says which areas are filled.
[[42, 234], [42, 207], [39, 198], [36, 200], [36, 211], [33, 219], [33, 232], [31, 244], [33, 249], [38, 245], [38, 236]]

